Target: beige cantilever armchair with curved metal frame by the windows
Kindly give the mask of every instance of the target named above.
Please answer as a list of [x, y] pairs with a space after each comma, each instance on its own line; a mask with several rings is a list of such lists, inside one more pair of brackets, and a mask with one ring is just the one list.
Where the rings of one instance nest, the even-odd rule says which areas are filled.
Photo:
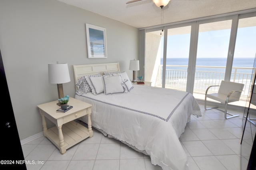
[[[216, 86], [220, 86], [218, 93], [207, 94], [208, 90], [214, 86], [209, 86], [206, 89], [205, 99], [204, 99], [205, 110], [210, 110], [210, 109], [220, 110], [220, 111], [224, 112], [224, 117], [226, 119], [239, 116], [239, 115], [234, 115], [234, 114], [227, 112], [227, 108], [228, 108], [228, 103], [239, 101], [242, 90], [244, 88], [244, 84], [228, 82], [228, 81], [222, 80], [220, 85], [216, 85]], [[206, 108], [206, 98], [211, 98], [211, 99], [216, 100], [222, 104], [225, 104], [225, 110], [221, 110], [218, 107]], [[227, 114], [229, 114], [231, 116], [227, 117]]]

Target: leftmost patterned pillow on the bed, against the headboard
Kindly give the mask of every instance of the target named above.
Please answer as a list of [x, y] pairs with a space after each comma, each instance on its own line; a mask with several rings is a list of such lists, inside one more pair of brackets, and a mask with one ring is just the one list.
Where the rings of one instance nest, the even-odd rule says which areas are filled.
[[[88, 76], [100, 77], [101, 74], [92, 74], [92, 75], [88, 75]], [[76, 82], [76, 87], [78, 88], [78, 90], [76, 90], [77, 95], [81, 96], [83, 94], [86, 94], [86, 93], [92, 91], [92, 89], [90, 88], [90, 86], [86, 80], [86, 77], [88, 77], [88, 76], [82, 76]]]

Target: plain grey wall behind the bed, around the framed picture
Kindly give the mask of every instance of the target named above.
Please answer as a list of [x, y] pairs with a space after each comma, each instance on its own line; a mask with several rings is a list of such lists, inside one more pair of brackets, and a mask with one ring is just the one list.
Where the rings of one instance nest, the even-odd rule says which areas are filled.
[[[106, 28], [107, 59], [88, 59], [86, 23]], [[48, 63], [68, 63], [71, 82], [63, 88], [71, 97], [72, 65], [119, 62], [132, 78], [129, 60], [139, 58], [139, 30], [56, 0], [0, 0], [0, 50], [23, 140], [42, 132], [36, 106], [58, 98], [57, 85], [48, 83]]]

